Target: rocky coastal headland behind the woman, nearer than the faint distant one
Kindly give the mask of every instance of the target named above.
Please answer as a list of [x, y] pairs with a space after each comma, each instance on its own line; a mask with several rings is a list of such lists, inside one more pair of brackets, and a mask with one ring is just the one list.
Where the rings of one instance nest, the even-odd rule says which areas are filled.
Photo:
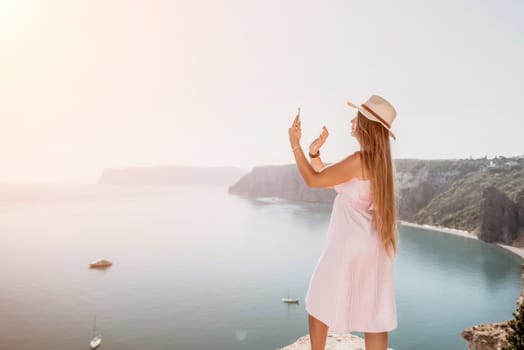
[[[490, 242], [524, 246], [524, 158], [395, 159], [394, 166], [399, 220], [466, 230]], [[507, 200], [488, 188], [497, 189]], [[296, 164], [255, 167], [228, 191], [328, 203], [336, 195], [333, 189], [307, 187]]]

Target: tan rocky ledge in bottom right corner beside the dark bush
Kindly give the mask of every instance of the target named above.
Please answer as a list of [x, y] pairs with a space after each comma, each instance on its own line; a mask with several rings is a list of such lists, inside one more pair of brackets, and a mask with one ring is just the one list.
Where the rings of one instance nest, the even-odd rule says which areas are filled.
[[[522, 291], [517, 299], [517, 309], [524, 302], [524, 264], [522, 264]], [[500, 350], [508, 346], [506, 335], [508, 322], [483, 323], [462, 331], [462, 337], [466, 340], [469, 350]]]

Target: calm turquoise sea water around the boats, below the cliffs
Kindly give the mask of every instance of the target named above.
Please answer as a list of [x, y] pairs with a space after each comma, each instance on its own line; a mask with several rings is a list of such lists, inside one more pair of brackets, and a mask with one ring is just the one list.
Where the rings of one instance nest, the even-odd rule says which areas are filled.
[[[288, 345], [308, 333], [330, 210], [226, 187], [0, 186], [0, 348], [87, 349], [95, 314], [101, 349]], [[390, 347], [466, 349], [464, 328], [512, 318], [520, 258], [405, 226], [399, 248]], [[114, 265], [89, 270], [100, 257]]]

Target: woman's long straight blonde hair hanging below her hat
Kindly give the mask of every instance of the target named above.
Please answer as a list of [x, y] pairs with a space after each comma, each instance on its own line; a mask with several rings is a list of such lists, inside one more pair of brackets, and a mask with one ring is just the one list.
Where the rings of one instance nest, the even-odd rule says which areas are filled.
[[361, 166], [371, 177], [373, 196], [372, 225], [380, 235], [382, 247], [389, 255], [398, 252], [395, 164], [391, 158], [389, 132], [380, 123], [357, 114], [356, 131], [360, 141]]

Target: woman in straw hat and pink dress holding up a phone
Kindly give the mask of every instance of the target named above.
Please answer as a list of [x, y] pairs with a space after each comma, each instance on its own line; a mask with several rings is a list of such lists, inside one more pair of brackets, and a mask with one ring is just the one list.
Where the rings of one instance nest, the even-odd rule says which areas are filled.
[[364, 332], [366, 350], [385, 350], [388, 331], [397, 328], [393, 261], [397, 254], [395, 169], [389, 136], [393, 106], [373, 95], [356, 106], [351, 135], [360, 150], [324, 166], [320, 147], [328, 132], [309, 148], [300, 147], [300, 116], [289, 128], [289, 141], [300, 174], [309, 187], [337, 192], [326, 242], [306, 294], [312, 350], [324, 350], [328, 328], [335, 333]]

